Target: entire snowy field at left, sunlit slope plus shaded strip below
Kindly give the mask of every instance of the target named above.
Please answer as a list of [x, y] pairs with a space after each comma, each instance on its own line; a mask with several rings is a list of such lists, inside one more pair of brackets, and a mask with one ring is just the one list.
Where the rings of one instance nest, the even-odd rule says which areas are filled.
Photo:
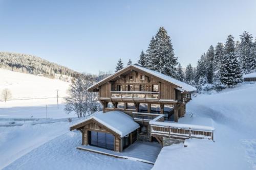
[[[70, 83], [0, 68], [0, 95], [8, 88], [11, 98], [4, 102], [0, 97], [0, 118], [65, 118], [63, 97]], [[57, 89], [59, 109], [57, 108]], [[46, 109], [46, 105], [48, 105]], [[0, 123], [1, 124], [1, 123]]]

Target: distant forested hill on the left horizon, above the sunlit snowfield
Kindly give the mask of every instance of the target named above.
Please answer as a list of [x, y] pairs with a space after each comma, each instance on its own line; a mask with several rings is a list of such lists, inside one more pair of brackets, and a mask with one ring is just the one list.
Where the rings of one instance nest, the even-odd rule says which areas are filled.
[[74, 77], [78, 72], [45, 59], [20, 53], [0, 52], [0, 68], [55, 78], [56, 74]]

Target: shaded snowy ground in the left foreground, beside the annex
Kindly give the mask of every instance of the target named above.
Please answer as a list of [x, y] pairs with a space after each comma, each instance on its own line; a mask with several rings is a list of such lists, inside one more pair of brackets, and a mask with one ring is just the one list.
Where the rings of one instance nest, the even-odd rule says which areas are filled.
[[[81, 133], [79, 131], [70, 132], [68, 128], [69, 123], [67, 122], [2, 127], [0, 131], [0, 168], [101, 170], [151, 169], [153, 166], [139, 161], [79, 151], [76, 147], [81, 144]], [[13, 141], [9, 142], [9, 140]]]

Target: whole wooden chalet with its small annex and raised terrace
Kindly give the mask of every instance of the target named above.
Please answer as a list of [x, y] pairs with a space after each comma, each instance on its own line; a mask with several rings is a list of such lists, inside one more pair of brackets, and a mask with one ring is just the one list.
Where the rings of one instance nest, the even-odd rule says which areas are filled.
[[70, 127], [82, 132], [84, 145], [122, 152], [136, 140], [158, 141], [163, 146], [169, 142], [165, 139], [213, 139], [211, 128], [171, 123], [184, 116], [196, 88], [157, 71], [129, 65], [88, 90], [99, 93], [103, 113]]

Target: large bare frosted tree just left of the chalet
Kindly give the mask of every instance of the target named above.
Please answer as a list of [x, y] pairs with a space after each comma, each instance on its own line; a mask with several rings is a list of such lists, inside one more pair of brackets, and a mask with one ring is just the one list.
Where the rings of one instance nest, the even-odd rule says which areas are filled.
[[69, 114], [74, 111], [78, 117], [85, 117], [99, 109], [97, 93], [89, 92], [87, 89], [96, 80], [96, 76], [80, 74], [73, 79], [65, 98], [65, 111]]

